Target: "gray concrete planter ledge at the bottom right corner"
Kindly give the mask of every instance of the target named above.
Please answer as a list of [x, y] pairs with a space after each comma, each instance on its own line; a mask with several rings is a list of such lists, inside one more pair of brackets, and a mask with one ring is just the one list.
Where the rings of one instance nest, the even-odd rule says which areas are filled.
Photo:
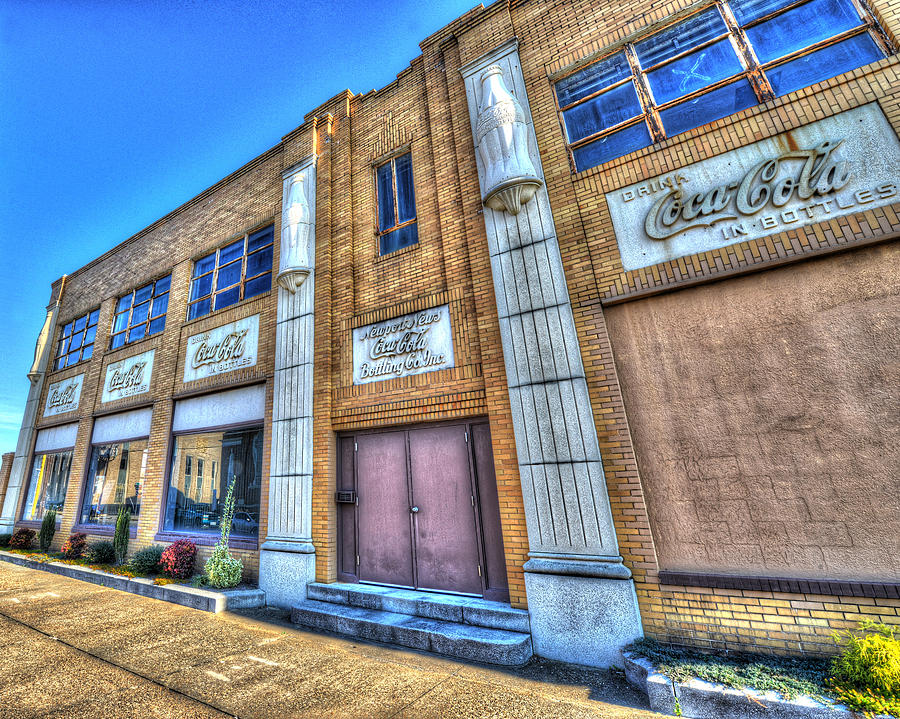
[[[676, 684], [657, 672], [650, 660], [631, 652], [623, 652], [622, 657], [628, 683], [644, 692], [650, 708], [660, 714], [689, 719], [858, 719], [860, 716], [843, 704], [823, 704], [808, 696], [784, 699], [773, 691], [731, 689], [701, 679]], [[880, 715], [875, 719], [890, 717]]]

